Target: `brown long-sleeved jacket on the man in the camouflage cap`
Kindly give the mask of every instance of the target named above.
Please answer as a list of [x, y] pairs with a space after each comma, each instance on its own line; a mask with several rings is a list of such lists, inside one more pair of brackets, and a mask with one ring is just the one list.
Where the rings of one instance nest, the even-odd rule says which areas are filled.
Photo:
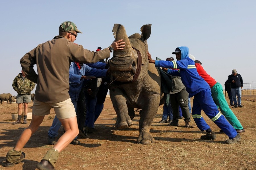
[[[62, 36], [39, 44], [20, 59], [26, 77], [35, 82], [35, 99], [58, 103], [69, 98], [69, 66], [72, 61], [95, 63], [110, 57], [108, 48], [98, 52], [86, 50]], [[37, 74], [34, 65], [37, 66]]]

